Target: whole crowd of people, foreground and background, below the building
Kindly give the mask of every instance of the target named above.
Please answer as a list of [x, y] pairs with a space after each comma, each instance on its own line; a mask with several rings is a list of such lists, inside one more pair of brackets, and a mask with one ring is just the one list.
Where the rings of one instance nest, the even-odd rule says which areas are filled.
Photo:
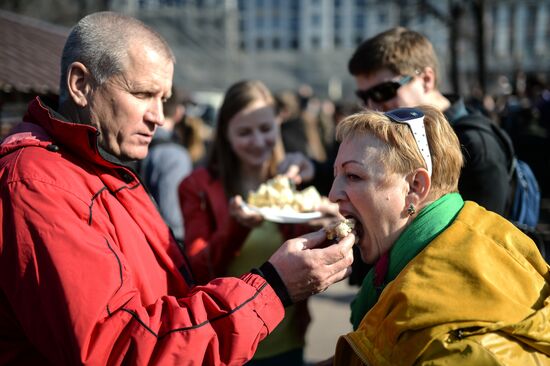
[[[550, 364], [550, 267], [508, 220], [509, 156], [461, 128], [519, 149], [511, 103], [495, 121], [443, 94], [403, 27], [351, 56], [359, 104], [235, 81], [212, 129], [175, 62], [141, 21], [87, 15], [59, 99], [2, 140], [0, 364], [304, 365], [308, 298], [345, 279], [353, 331], [319, 365]], [[547, 128], [548, 90], [528, 98]], [[327, 196], [323, 219], [247, 208], [276, 175]]]

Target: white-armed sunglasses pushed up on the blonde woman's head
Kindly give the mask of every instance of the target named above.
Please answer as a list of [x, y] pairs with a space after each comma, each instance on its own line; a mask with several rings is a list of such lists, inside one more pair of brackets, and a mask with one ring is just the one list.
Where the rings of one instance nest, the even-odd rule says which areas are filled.
[[424, 127], [424, 112], [416, 108], [398, 108], [385, 112], [384, 115], [391, 121], [403, 123], [410, 127], [416, 145], [426, 162], [428, 175], [432, 176], [432, 157], [430, 154], [430, 146], [426, 137], [426, 129]]

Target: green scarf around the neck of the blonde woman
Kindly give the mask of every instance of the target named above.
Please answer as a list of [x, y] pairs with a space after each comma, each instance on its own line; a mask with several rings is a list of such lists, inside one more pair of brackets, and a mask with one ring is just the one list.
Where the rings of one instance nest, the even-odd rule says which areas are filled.
[[[458, 193], [449, 193], [422, 209], [401, 233], [390, 249], [389, 267], [382, 289], [393, 281], [403, 268], [439, 233], [453, 222], [464, 201]], [[376, 304], [381, 290], [374, 286], [375, 268], [371, 268], [359, 293], [351, 303], [351, 323], [356, 330], [367, 312]]]

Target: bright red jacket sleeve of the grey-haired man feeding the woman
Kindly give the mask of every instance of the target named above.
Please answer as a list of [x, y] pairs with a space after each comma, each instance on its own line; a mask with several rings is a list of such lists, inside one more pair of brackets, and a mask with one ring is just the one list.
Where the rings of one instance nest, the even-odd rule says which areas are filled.
[[0, 328], [15, 324], [22, 349], [51, 364], [241, 365], [284, 315], [253, 274], [144, 305], [111, 235], [118, 228], [90, 226], [89, 202], [37, 180], [4, 182], [0, 194], [0, 286], [9, 304], [0, 313], [16, 319], [0, 317]]

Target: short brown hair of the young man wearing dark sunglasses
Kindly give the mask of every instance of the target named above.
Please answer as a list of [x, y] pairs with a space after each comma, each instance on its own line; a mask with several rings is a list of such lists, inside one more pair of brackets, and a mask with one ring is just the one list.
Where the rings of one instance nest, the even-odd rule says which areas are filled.
[[372, 75], [382, 69], [414, 76], [428, 66], [434, 70], [437, 82], [438, 61], [431, 42], [418, 32], [396, 27], [359, 45], [348, 70], [354, 76]]

